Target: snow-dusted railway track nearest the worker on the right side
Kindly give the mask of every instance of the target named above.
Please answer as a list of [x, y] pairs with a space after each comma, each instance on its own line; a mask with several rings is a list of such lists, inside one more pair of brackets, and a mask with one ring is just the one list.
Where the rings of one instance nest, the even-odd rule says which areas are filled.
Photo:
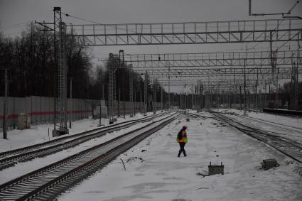
[[256, 138], [257, 140], [268, 144], [269, 146], [275, 148], [276, 150], [284, 153], [284, 155], [292, 158], [298, 163], [302, 163], [302, 144], [296, 141], [291, 141], [288, 138], [283, 138], [281, 136], [276, 136], [271, 134], [269, 131], [264, 131], [261, 129], [254, 128], [252, 126], [246, 126], [230, 117], [224, 116], [220, 113], [210, 111], [210, 113], [215, 116], [215, 119], [219, 121], [224, 121], [226, 124], [242, 131], [244, 134]]

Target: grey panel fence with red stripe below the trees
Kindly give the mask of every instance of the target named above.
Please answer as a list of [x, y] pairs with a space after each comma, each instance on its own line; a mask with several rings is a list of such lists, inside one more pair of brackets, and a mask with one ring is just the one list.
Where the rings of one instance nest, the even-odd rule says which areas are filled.
[[[31, 124], [51, 124], [53, 123], [54, 114], [58, 114], [58, 111], [54, 110], [54, 98], [53, 97], [8, 97], [7, 98], [7, 126], [9, 129], [17, 126], [18, 114], [30, 114]], [[92, 115], [92, 106], [96, 107], [99, 103], [97, 99], [68, 99], [68, 119], [76, 121], [79, 119], [87, 118]], [[135, 113], [141, 112], [143, 103], [134, 102]], [[130, 102], [116, 102], [114, 104], [114, 110], [116, 114], [130, 114], [131, 104]], [[161, 109], [161, 104], [156, 103], [156, 109]], [[3, 127], [4, 119], [4, 97], [0, 97], [0, 130]]]

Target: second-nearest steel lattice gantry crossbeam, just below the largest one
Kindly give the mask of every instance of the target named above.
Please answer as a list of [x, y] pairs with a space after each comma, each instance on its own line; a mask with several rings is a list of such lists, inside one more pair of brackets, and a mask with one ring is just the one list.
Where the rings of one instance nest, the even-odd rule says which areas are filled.
[[297, 51], [274, 51], [271, 58], [269, 51], [227, 52], [227, 53], [166, 53], [166, 54], [131, 54], [124, 60], [132, 67], [218, 67], [218, 66], [271, 66], [291, 65], [297, 58]]

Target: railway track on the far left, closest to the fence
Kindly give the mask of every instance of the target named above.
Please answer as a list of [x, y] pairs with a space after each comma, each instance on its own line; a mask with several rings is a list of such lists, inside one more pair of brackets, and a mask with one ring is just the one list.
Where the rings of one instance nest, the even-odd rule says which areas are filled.
[[[75, 134], [72, 136], [65, 136], [63, 138], [58, 138], [53, 141], [49, 141], [47, 143], [40, 143], [35, 146], [28, 146], [24, 148], [19, 148], [18, 150], [7, 151], [0, 153], [0, 156], [6, 156], [6, 158], [2, 158], [0, 160], [0, 170], [4, 170], [11, 166], [16, 165], [16, 163], [31, 161], [33, 158], [44, 157], [50, 154], [56, 153], [58, 151], [62, 151], [66, 148], [71, 148], [77, 146], [80, 143], [84, 143], [85, 141], [89, 141], [92, 138], [97, 138], [100, 136], [104, 136], [112, 131], [118, 131], [121, 129], [125, 129], [134, 124], [138, 124], [141, 122], [147, 122], [155, 119], [156, 117], [166, 115], [167, 112], [162, 114], [157, 114], [153, 116], [144, 117], [142, 119], [136, 119], [131, 121], [126, 121], [122, 123], [118, 123], [112, 126], [106, 126], [102, 129], [92, 129], [90, 131], [85, 131], [80, 134]], [[10, 155], [9, 155], [10, 153]], [[13, 154], [17, 153], [17, 154]]]

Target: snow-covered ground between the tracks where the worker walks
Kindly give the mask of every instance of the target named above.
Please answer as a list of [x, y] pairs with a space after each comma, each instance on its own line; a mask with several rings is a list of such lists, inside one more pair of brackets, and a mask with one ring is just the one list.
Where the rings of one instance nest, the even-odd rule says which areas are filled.
[[[190, 119], [169, 126], [141, 141], [119, 158], [80, 183], [59, 200], [301, 200], [302, 179], [296, 164], [268, 146], [213, 119]], [[176, 133], [188, 125], [188, 157], [177, 158]], [[146, 150], [146, 151], [144, 151]], [[143, 152], [142, 152], [143, 151]], [[259, 170], [265, 158], [281, 164]], [[225, 175], [202, 178], [207, 165], [225, 164]]]

